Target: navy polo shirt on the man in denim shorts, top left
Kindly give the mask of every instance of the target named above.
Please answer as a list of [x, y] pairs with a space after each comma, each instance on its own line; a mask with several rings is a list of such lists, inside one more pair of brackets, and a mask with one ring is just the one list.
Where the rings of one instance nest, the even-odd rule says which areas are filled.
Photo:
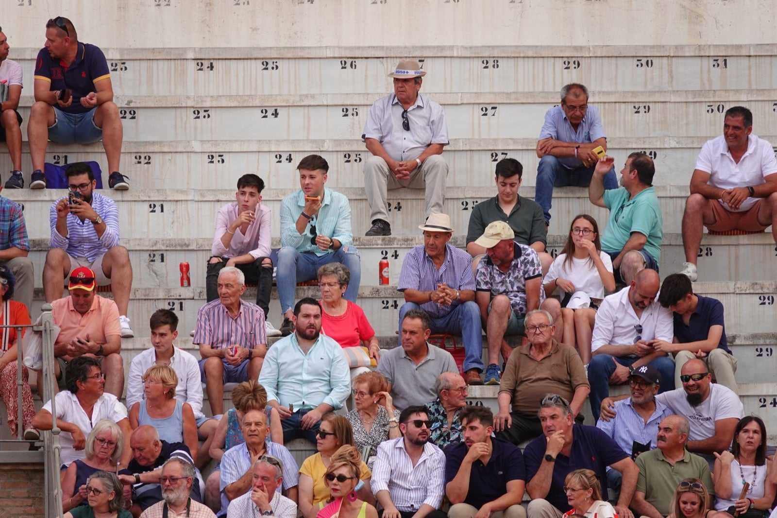
[[61, 60], [54, 60], [47, 48], [40, 49], [35, 60], [35, 79], [51, 83], [49, 90], [56, 91], [69, 88], [73, 93], [73, 102], [67, 108], [60, 108], [68, 114], [85, 114], [92, 108], [81, 106], [81, 98], [90, 92], [96, 92], [95, 83], [110, 78], [108, 62], [105, 54], [91, 44], [78, 42], [78, 53], [75, 61], [66, 65]]

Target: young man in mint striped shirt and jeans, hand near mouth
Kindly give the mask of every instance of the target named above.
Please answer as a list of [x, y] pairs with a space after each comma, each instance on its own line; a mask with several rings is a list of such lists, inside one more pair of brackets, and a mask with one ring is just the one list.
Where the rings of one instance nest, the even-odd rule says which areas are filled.
[[294, 332], [292, 310], [298, 282], [317, 278], [324, 264], [342, 263], [350, 271], [343, 298], [356, 303], [361, 283], [361, 259], [350, 229], [348, 198], [324, 187], [329, 163], [322, 156], [308, 155], [297, 166], [299, 191], [280, 201], [280, 250], [276, 285], [284, 321], [280, 332]]

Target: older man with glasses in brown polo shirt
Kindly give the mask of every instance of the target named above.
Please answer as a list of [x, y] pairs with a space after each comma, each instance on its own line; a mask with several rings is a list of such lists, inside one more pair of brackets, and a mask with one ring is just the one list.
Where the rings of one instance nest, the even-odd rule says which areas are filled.
[[497, 397], [499, 413], [493, 419], [497, 437], [516, 445], [542, 433], [538, 402], [548, 390], [571, 400], [572, 417], [579, 417], [580, 422], [580, 409], [591, 391], [575, 348], [553, 338], [555, 326], [550, 313], [529, 311], [524, 324], [528, 344], [515, 349], [507, 359]]

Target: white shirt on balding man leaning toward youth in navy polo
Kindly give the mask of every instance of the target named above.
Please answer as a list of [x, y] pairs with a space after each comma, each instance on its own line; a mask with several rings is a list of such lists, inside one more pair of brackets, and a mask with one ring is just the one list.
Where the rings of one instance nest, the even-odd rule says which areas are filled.
[[642, 326], [639, 335], [643, 340], [671, 342], [674, 337], [672, 313], [668, 308], [661, 307], [657, 298], [642, 312], [642, 317], [637, 317], [629, 303], [629, 286], [606, 296], [596, 312], [591, 352], [607, 344], [632, 345], [637, 336], [636, 325]]

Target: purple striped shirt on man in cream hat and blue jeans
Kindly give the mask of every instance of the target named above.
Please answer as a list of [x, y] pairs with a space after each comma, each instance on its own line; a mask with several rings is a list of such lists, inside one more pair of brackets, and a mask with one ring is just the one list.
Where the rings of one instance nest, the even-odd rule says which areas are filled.
[[[464, 250], [451, 247], [450, 243], [445, 244], [445, 260], [438, 270], [434, 265], [423, 245], [410, 250], [402, 261], [402, 273], [399, 274], [397, 291], [406, 289], [417, 289], [422, 292], [430, 292], [437, 289], [441, 283], [448, 285], [448, 288], [475, 290], [475, 277], [472, 275], [472, 256]], [[456, 306], [461, 304], [456, 301], [450, 306], [427, 302], [421, 304], [421, 309], [426, 311], [432, 318], [445, 317]]]

